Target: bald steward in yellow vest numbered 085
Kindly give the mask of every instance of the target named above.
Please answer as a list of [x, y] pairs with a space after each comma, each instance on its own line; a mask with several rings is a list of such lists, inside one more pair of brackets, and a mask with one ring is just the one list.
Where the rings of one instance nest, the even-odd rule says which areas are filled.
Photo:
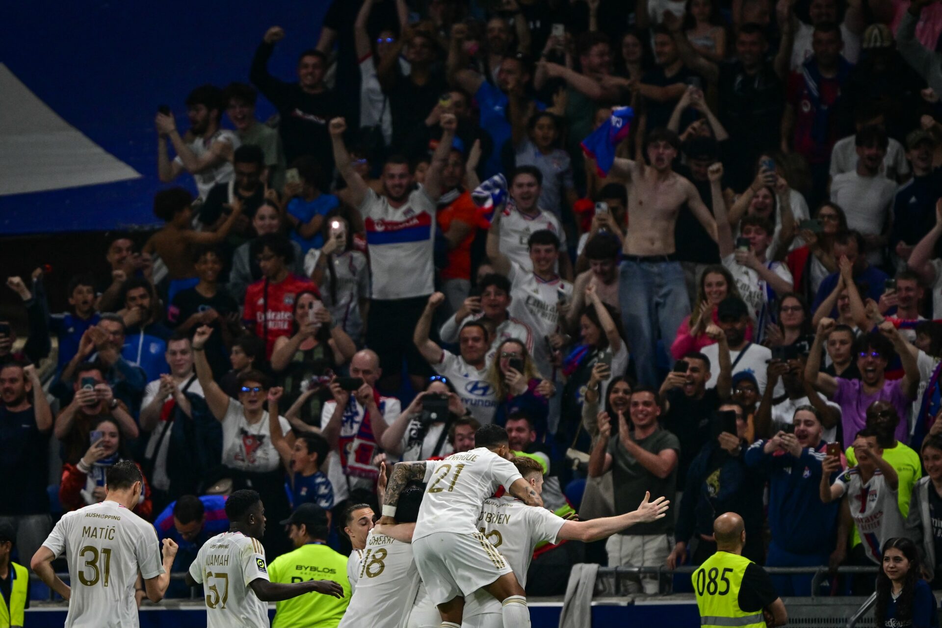
[[788, 621], [785, 604], [760, 566], [742, 556], [742, 517], [726, 512], [713, 522], [716, 554], [693, 572], [701, 628], [771, 628]]

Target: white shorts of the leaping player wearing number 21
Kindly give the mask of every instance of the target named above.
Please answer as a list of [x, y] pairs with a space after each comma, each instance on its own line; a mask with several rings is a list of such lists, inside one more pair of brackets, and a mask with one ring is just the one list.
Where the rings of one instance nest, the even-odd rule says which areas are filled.
[[433, 604], [445, 604], [512, 573], [504, 556], [479, 532], [436, 532], [413, 541], [415, 567]]

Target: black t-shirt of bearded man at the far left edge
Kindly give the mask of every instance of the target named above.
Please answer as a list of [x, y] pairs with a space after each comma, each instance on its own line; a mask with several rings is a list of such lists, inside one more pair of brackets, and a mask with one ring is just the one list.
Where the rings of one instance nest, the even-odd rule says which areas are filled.
[[49, 432], [36, 427], [36, 412], [0, 404], [0, 516], [49, 512]]

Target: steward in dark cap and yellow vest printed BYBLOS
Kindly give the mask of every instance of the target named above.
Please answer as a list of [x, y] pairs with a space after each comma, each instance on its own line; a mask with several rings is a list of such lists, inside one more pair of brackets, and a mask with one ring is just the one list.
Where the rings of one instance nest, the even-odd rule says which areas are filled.
[[327, 511], [317, 504], [301, 504], [281, 524], [287, 526], [288, 538], [295, 549], [268, 563], [268, 579], [284, 583], [333, 580], [344, 588], [344, 597], [299, 595], [278, 602], [271, 628], [335, 628], [347, 611], [350, 583], [347, 579], [347, 556], [337, 554], [327, 545], [330, 532]]

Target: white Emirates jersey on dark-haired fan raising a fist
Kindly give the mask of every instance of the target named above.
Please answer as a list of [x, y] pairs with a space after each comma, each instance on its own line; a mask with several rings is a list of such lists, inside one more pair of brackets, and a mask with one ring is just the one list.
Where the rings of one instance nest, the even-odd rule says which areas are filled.
[[549, 349], [546, 348], [544, 337], [556, 333], [560, 324], [560, 311], [556, 309], [556, 304], [560, 297], [567, 301], [573, 299], [573, 284], [560, 277], [544, 282], [532, 270], [515, 262], [511, 263], [507, 279], [511, 280], [510, 312], [533, 331], [533, 362], [540, 375], [549, 378], [553, 367], [549, 363]]

